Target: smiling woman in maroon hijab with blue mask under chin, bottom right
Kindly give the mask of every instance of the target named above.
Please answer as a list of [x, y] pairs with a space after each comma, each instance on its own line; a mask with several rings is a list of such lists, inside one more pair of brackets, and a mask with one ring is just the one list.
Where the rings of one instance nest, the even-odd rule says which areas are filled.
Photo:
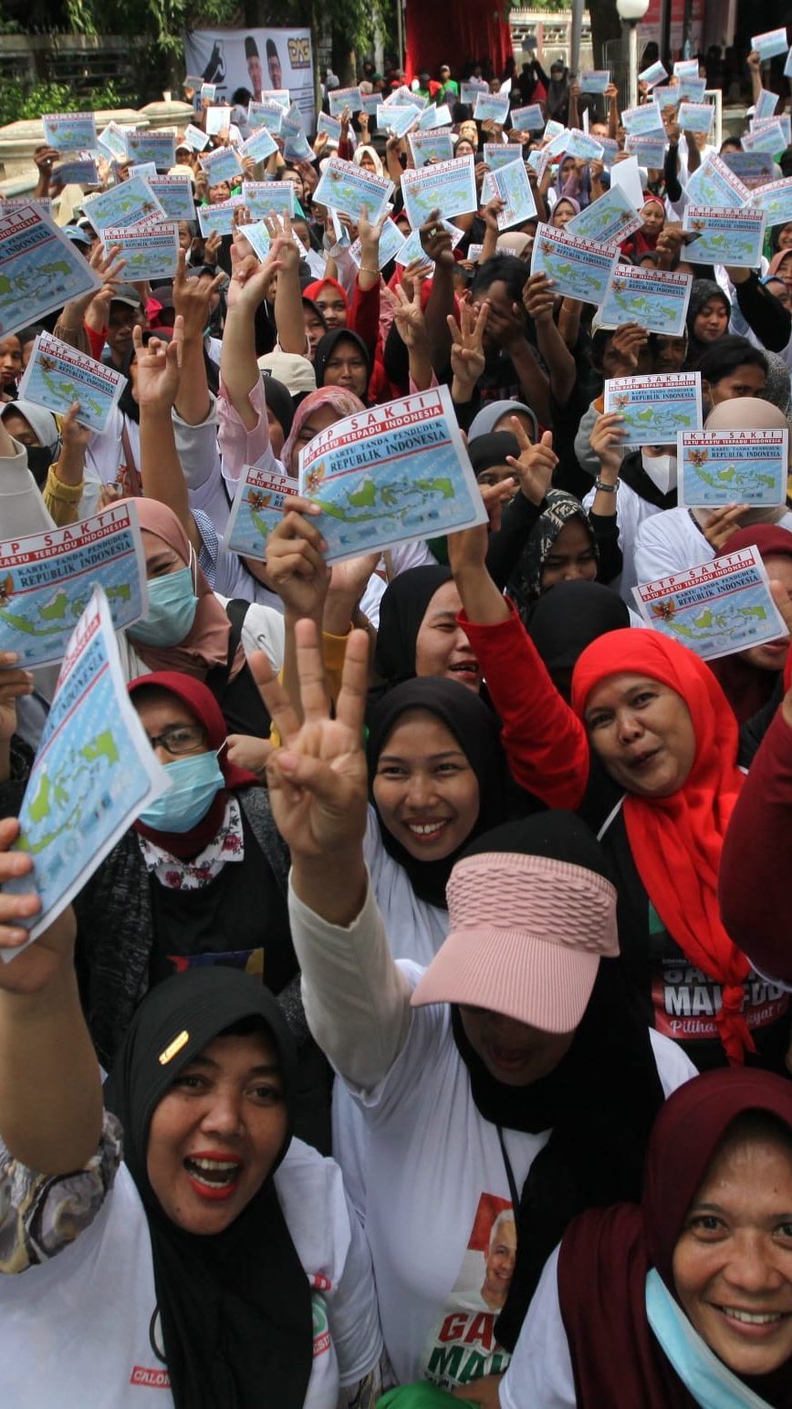
[[590, 1209], [545, 1265], [502, 1409], [792, 1403], [792, 1086], [707, 1072], [657, 1116], [641, 1205]]

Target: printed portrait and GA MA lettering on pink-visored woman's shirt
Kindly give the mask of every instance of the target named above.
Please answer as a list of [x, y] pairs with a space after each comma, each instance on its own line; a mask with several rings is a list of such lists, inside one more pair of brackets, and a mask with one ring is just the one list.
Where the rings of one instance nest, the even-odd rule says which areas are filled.
[[441, 1389], [506, 1370], [512, 1357], [495, 1339], [495, 1322], [509, 1296], [516, 1255], [512, 1203], [482, 1193], [459, 1275], [424, 1353], [424, 1375]]

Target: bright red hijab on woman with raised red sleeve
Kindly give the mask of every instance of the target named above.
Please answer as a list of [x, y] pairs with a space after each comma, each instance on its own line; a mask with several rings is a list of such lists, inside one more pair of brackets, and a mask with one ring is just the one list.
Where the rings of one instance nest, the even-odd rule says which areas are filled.
[[669, 797], [624, 797], [630, 850], [644, 888], [686, 958], [723, 988], [716, 1016], [730, 1062], [754, 1041], [743, 1017], [750, 964], [731, 943], [717, 905], [723, 837], [740, 788], [737, 720], [698, 655], [660, 631], [607, 631], [582, 652], [572, 675], [572, 709], [582, 719], [596, 685], [612, 675], [648, 675], [682, 696], [696, 738], [689, 776]]

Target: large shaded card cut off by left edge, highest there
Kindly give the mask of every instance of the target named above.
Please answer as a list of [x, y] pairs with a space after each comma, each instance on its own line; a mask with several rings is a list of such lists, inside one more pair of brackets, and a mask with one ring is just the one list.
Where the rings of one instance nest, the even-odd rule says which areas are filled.
[[0, 214], [0, 335], [30, 327], [92, 289], [101, 289], [101, 279], [49, 216], [34, 206]]

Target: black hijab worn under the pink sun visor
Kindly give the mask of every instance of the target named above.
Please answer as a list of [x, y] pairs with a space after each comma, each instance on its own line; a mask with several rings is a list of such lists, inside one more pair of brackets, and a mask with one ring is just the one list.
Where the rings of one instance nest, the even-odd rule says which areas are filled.
[[[568, 812], [506, 823], [479, 836], [464, 854], [488, 851], [552, 857], [610, 879], [593, 833]], [[640, 1202], [644, 1155], [664, 1092], [650, 1030], [633, 1013], [619, 960], [600, 960], [572, 1045], [554, 1071], [530, 1086], [509, 1086], [490, 1075], [457, 1006], [451, 1024], [479, 1115], [503, 1130], [551, 1131], [521, 1192], [513, 1191], [517, 1260], [495, 1324], [499, 1344], [513, 1350], [543, 1267], [571, 1220], [583, 1209]]]

